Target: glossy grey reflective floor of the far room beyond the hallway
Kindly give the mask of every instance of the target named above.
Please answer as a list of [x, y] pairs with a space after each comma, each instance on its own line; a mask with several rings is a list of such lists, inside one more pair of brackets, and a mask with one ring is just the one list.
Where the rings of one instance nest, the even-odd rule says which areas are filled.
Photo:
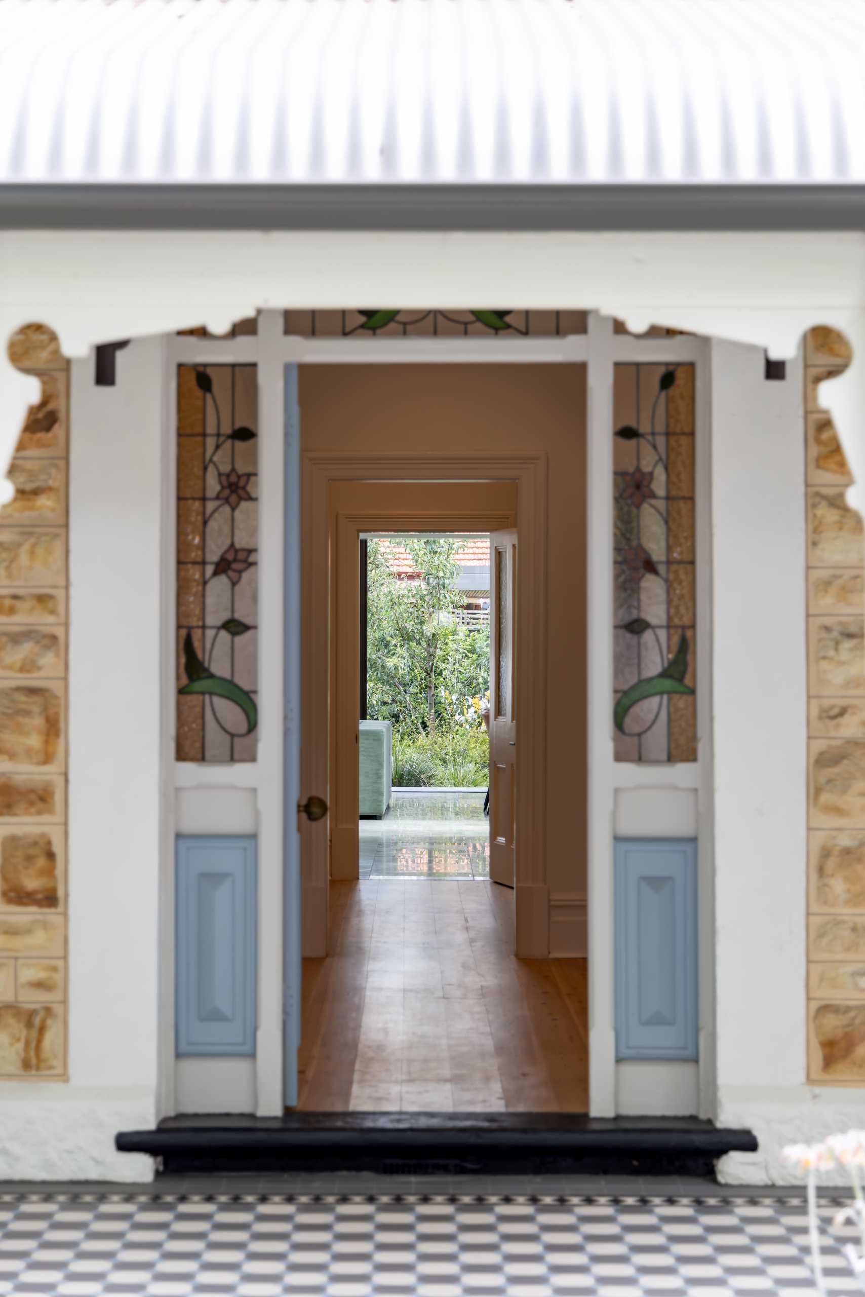
[[394, 791], [384, 818], [361, 821], [361, 878], [489, 878], [484, 791]]

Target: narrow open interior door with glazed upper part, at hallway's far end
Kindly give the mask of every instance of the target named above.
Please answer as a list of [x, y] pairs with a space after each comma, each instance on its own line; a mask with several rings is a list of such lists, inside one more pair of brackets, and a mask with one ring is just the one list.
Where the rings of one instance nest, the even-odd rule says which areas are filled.
[[490, 534], [490, 878], [516, 877], [516, 532]]

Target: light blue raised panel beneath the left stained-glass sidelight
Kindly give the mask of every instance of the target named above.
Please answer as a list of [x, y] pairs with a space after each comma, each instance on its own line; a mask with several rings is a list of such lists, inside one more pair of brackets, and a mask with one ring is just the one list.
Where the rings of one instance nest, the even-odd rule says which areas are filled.
[[176, 843], [176, 1053], [255, 1052], [255, 839]]

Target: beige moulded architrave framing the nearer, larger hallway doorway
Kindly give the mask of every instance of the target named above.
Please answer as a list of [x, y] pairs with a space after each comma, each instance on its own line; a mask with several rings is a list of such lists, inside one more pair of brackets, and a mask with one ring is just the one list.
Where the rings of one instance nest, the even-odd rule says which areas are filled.
[[[306, 453], [302, 455], [302, 769], [301, 798], [331, 798], [331, 601], [337, 537], [332, 534], [331, 486], [337, 482], [480, 484], [515, 482], [520, 564], [516, 689], [524, 717], [517, 786], [516, 953], [549, 955], [549, 888], [545, 852], [546, 757], [546, 494], [547, 457]], [[416, 511], [412, 516], [418, 518]], [[501, 514], [499, 514], [501, 516]], [[375, 515], [372, 515], [375, 519]], [[390, 520], [393, 515], [390, 515]], [[466, 528], [462, 518], [440, 515], [442, 530]], [[353, 523], [357, 528], [357, 515]], [[385, 529], [364, 515], [363, 529]], [[488, 525], [494, 525], [493, 519]], [[499, 525], [508, 525], [507, 521]], [[389, 523], [389, 528], [392, 521]], [[357, 536], [357, 530], [355, 530]], [[357, 630], [357, 628], [355, 628]], [[357, 687], [353, 709], [357, 703]], [[354, 757], [354, 754], [351, 754]], [[328, 835], [322, 822], [301, 826], [303, 955], [327, 953]]]

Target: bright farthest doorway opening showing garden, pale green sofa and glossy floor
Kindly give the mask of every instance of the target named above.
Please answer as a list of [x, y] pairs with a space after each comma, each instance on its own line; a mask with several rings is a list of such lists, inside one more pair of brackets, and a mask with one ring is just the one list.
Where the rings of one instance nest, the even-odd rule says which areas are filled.
[[359, 877], [490, 877], [490, 537], [364, 533]]

